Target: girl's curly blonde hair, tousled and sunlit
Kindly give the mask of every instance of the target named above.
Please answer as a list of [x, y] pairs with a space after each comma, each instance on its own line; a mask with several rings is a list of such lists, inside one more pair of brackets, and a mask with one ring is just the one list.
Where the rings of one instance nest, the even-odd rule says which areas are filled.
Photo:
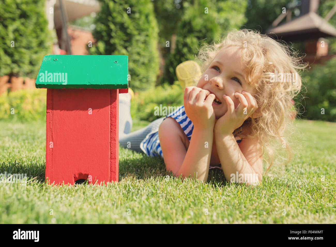
[[[268, 165], [266, 172], [274, 163], [277, 151], [284, 148], [289, 158], [283, 165], [287, 165], [293, 158], [291, 148], [293, 141], [290, 135], [297, 130], [290, 119], [293, 113], [292, 99], [299, 94], [302, 86], [297, 71], [304, 70], [308, 65], [302, 63], [302, 57], [297, 57], [297, 52], [292, 47], [260, 34], [259, 31], [242, 29], [231, 31], [224, 39], [219, 39], [218, 43], [204, 44], [199, 49], [195, 60], [200, 65], [202, 74], [216, 55], [229, 46], [241, 48], [242, 68], [248, 71], [246, 78], [248, 84], [255, 87], [255, 94], [252, 96], [257, 100], [256, 113], [260, 115], [245, 120], [243, 125], [249, 127], [250, 133], [238, 136], [258, 138], [262, 146], [261, 156], [265, 151], [268, 155], [268, 161], [265, 159]], [[286, 75], [289, 81], [278, 80], [275, 78], [278, 75]], [[294, 108], [297, 110], [295, 106]], [[289, 134], [285, 135], [285, 132]], [[279, 140], [280, 143], [274, 140]]]

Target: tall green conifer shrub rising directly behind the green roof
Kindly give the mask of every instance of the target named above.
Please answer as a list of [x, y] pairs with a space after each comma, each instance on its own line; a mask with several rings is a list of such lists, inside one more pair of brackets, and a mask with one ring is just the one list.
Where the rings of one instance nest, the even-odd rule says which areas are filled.
[[[129, 86], [154, 87], [159, 72], [158, 27], [151, 0], [99, 0], [90, 55], [128, 55]], [[130, 8], [130, 13], [127, 13]]]

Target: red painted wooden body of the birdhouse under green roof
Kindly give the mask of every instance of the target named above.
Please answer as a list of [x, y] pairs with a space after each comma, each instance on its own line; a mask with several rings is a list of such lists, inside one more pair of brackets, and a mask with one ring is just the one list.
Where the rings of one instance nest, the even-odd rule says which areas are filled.
[[89, 183], [118, 181], [118, 90], [47, 89], [45, 176], [49, 183], [74, 184], [89, 176]]

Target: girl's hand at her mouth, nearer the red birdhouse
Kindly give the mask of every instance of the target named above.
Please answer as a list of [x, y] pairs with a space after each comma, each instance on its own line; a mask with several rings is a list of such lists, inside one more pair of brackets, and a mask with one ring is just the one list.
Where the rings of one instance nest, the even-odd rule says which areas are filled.
[[212, 102], [215, 98], [214, 94], [199, 87], [189, 86], [184, 89], [184, 110], [194, 126], [201, 128], [214, 127], [216, 117]]

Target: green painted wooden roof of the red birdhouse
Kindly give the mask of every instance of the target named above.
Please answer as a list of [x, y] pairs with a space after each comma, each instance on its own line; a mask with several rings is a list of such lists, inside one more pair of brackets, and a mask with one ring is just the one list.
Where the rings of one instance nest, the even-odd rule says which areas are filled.
[[128, 88], [126, 55], [44, 56], [37, 88]]

